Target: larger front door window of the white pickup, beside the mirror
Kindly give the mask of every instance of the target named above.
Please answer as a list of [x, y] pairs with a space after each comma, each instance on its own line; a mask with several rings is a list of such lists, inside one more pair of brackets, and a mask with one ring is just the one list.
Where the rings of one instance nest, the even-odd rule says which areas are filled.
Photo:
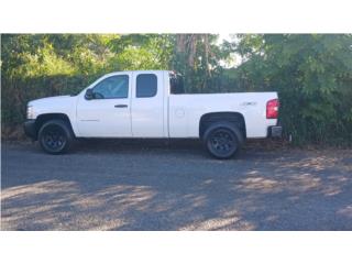
[[116, 75], [101, 80], [92, 88], [96, 99], [129, 97], [129, 76]]

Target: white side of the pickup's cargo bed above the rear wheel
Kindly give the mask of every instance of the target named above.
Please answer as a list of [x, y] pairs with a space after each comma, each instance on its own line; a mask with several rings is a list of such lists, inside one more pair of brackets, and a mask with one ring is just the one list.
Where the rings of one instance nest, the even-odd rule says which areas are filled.
[[232, 111], [243, 116], [246, 138], [266, 138], [267, 128], [277, 123], [276, 119], [266, 119], [266, 102], [276, 98], [277, 92], [169, 95], [169, 136], [185, 138], [186, 133], [186, 138], [198, 138], [204, 114]]

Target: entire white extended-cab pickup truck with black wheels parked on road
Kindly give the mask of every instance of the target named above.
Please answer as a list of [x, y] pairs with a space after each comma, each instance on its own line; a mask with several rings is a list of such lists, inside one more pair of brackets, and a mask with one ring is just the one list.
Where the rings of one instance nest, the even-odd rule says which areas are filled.
[[233, 156], [246, 139], [280, 136], [276, 92], [187, 95], [168, 70], [102, 76], [77, 96], [30, 101], [25, 134], [50, 154], [77, 138], [194, 138], [215, 157]]

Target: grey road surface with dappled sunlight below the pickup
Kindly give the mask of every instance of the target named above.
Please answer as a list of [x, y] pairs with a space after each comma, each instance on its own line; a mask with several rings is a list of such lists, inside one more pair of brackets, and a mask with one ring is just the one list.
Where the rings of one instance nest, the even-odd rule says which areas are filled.
[[352, 150], [210, 158], [197, 142], [1, 147], [2, 230], [352, 230]]

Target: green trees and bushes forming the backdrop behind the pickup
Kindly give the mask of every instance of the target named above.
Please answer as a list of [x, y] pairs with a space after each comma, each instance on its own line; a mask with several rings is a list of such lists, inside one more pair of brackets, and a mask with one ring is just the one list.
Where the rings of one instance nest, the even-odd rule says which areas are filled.
[[179, 72], [188, 92], [276, 90], [293, 143], [352, 144], [351, 34], [2, 34], [2, 136], [21, 136], [29, 100], [131, 69]]

